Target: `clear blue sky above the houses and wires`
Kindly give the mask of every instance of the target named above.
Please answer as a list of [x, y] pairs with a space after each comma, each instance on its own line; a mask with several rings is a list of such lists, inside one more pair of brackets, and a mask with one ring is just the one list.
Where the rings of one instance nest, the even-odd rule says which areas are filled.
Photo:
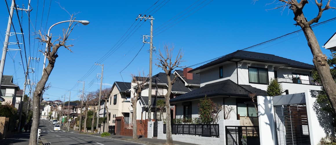
[[[157, 3], [153, 5], [155, 2]], [[157, 49], [162, 49], [164, 45], [174, 46], [175, 51], [182, 49], [183, 60], [185, 61], [183, 65], [191, 66], [300, 29], [293, 25], [295, 22], [292, 11], [288, 9], [267, 10], [279, 5], [277, 3], [266, 5], [267, 2], [271, 1], [259, 0], [254, 3], [252, 0], [244, 0], [228, 3], [218, 0], [148, 0], [103, 1], [98, 3], [86, 0], [39, 0], [38, 3], [37, 1], [31, 2], [33, 10], [30, 12], [30, 24], [28, 13], [19, 11], [18, 15], [25, 33], [27, 58], [29, 56], [40, 58], [39, 62], [32, 61], [30, 64], [30, 67], [34, 68], [35, 71], [35, 73], [29, 73], [30, 79], [35, 83], [41, 77], [43, 66], [43, 55], [38, 50], [44, 49], [45, 45], [41, 45], [34, 39], [37, 37], [34, 32], [41, 30], [44, 33], [45, 29], [48, 29], [52, 24], [70, 19], [70, 15], [59, 5], [71, 14], [77, 13], [75, 15], [76, 20], [90, 21], [87, 26], [77, 25], [71, 34], [71, 38], [75, 40], [68, 43], [74, 45], [71, 48], [73, 53], [65, 48], [59, 49], [59, 57], [48, 80], [52, 87], [44, 95], [45, 98], [49, 98], [46, 100], [58, 100], [66, 94], [66, 100], [68, 100], [69, 92], [65, 91], [72, 89], [71, 100], [77, 100], [77, 95], [81, 94], [78, 91], [83, 87], [81, 83], [77, 84], [78, 80], [86, 82], [85, 92], [99, 88], [100, 80], [96, 76], [97, 73], [101, 73], [101, 68], [94, 66], [95, 62], [104, 64], [103, 88], [111, 87], [114, 81], [122, 81], [121, 75], [124, 81], [130, 81], [131, 74], [136, 74], [142, 70], [145, 73], [149, 72], [149, 52], [147, 50], [150, 46], [144, 44], [134, 62], [121, 75], [119, 74], [143, 45], [142, 35], [150, 33], [149, 21], [139, 22], [138, 20], [134, 23], [139, 13], [147, 16], [152, 15], [155, 19], [153, 25], [154, 46]], [[5, 2], [2, 3], [0, 35], [3, 37], [0, 37], [0, 41], [3, 42], [9, 14]], [[11, 1], [7, 0], [7, 3], [10, 5]], [[28, 1], [17, 0], [16, 4], [19, 7], [24, 4], [27, 8]], [[153, 7], [151, 7], [152, 5]], [[335, 1], [332, 1], [331, 6], [333, 5], [336, 5]], [[150, 9], [147, 10], [148, 8]], [[318, 9], [313, 2], [310, 2], [306, 5], [304, 12], [310, 20], [317, 15]], [[336, 11], [334, 9], [327, 10], [323, 13], [320, 22], [332, 19], [335, 15]], [[135, 28], [137, 31], [134, 33], [132, 31], [133, 34], [130, 35], [126, 33], [125, 36], [130, 37], [127, 37], [127, 41], [122, 45], [118, 45], [118, 40], [133, 23], [133, 27], [139, 23]], [[16, 12], [13, 17], [13, 24], [18, 32], [19, 24]], [[332, 21], [313, 29], [320, 46], [335, 33], [335, 24], [336, 21]], [[67, 27], [67, 24], [57, 25], [51, 29], [51, 33], [53, 36], [61, 35], [62, 28], [65, 27]], [[14, 32], [13, 28], [11, 32]], [[22, 42], [23, 38], [18, 35], [18, 39]], [[9, 41], [16, 42], [15, 36], [11, 36]], [[115, 44], [120, 47], [113, 47]], [[23, 45], [21, 47], [23, 48]], [[9, 48], [18, 47], [11, 45]], [[114, 50], [112, 54], [108, 53], [111, 52], [111, 49]], [[249, 49], [249, 51], [270, 53], [312, 64], [312, 55], [302, 32]], [[322, 51], [330, 56], [329, 50], [322, 48]], [[108, 57], [104, 58], [104, 61], [98, 62], [106, 54], [108, 54]], [[153, 55], [153, 75], [162, 72], [155, 66], [157, 55], [158, 53]], [[24, 51], [23, 60], [26, 66]], [[94, 66], [94, 69], [90, 69], [92, 66]], [[195, 67], [197, 66], [193, 68]], [[90, 73], [85, 75], [88, 71]], [[19, 52], [10, 51], [7, 53], [4, 75], [13, 75], [14, 83], [23, 89], [25, 76]], [[85, 76], [84, 79], [83, 76]], [[89, 85], [89, 82], [92, 85]]]

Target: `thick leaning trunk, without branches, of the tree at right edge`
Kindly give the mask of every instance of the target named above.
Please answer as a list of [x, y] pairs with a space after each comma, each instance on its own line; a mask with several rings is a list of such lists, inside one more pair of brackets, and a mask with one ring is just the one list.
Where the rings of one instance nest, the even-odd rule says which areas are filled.
[[336, 113], [336, 83], [330, 73], [330, 67], [327, 63], [327, 56], [321, 51], [319, 42], [310, 26], [301, 27], [308, 41], [308, 46], [313, 55], [313, 63], [318, 71], [322, 86], [328, 96], [329, 101]]

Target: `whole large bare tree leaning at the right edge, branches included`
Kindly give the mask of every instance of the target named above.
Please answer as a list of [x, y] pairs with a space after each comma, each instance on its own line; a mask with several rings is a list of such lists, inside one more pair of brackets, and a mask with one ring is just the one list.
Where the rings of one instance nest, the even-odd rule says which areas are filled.
[[307, 20], [303, 12], [303, 8], [309, 2], [308, 0], [300, 0], [299, 2], [297, 0], [278, 0], [278, 2], [282, 3], [282, 5], [273, 9], [278, 8], [284, 9], [288, 7], [293, 11], [294, 21], [296, 22], [296, 24], [294, 25], [301, 27], [304, 36], [307, 39], [308, 46], [313, 55], [313, 63], [315, 65], [317, 72], [321, 77], [322, 86], [327, 94], [329, 101], [332, 104], [334, 112], [336, 113], [336, 83], [331, 76], [330, 67], [327, 63], [327, 56], [324, 55], [323, 52], [321, 51], [319, 42], [317, 41], [317, 38], [310, 27], [310, 25], [312, 25], [313, 23], [319, 22], [322, 13], [325, 10], [328, 10], [330, 8], [336, 9], [335, 7], [330, 6], [330, 1], [331, 0], [328, 0], [326, 5], [323, 6], [322, 3], [323, 0], [319, 2], [318, 0], [315, 0], [314, 2], [318, 8], [316, 11], [317, 15], [309, 21]]

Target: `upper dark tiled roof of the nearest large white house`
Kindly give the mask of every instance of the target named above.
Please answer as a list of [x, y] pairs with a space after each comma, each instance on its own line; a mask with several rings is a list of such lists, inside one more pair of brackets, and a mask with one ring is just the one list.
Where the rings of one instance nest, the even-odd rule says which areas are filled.
[[213, 65], [220, 64], [222, 62], [226, 62], [232, 59], [240, 59], [240, 60], [248, 60], [248, 61], [256, 61], [256, 62], [266, 62], [266, 63], [275, 63], [275, 64], [283, 64], [288, 67], [294, 67], [294, 68], [303, 68], [303, 69], [315, 69], [315, 66], [286, 59], [283, 57], [270, 55], [266, 53], [259, 53], [259, 52], [251, 52], [251, 51], [243, 51], [238, 50], [236, 52], [230, 53], [228, 55], [225, 55], [217, 60], [214, 60], [210, 63], [207, 63], [205, 65], [202, 65], [200, 67], [197, 67], [189, 72], [193, 72], [199, 69], [204, 69]]

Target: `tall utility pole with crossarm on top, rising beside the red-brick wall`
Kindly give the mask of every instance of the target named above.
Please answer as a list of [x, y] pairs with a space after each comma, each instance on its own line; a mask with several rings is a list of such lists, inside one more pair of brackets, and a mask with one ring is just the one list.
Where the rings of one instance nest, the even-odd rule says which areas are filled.
[[[139, 14], [139, 16], [135, 19], [138, 20], [138, 18], [140, 18], [140, 21], [142, 19], [144, 19], [144, 21], [146, 21], [147, 19], [151, 20], [151, 35], [147, 36], [147, 35], [143, 35], [142, 38], [142, 42], [143, 43], [150, 43], [150, 49], [149, 49], [149, 84], [148, 84], [148, 119], [152, 120], [152, 60], [153, 60], [153, 49], [155, 47], [153, 47], [153, 16], [151, 17], [151, 15], [149, 15], [148, 17], [146, 17], [146, 15], [141, 16], [141, 14]], [[151, 37], [150, 40], [151, 42], [146, 42], [144, 39]]]

